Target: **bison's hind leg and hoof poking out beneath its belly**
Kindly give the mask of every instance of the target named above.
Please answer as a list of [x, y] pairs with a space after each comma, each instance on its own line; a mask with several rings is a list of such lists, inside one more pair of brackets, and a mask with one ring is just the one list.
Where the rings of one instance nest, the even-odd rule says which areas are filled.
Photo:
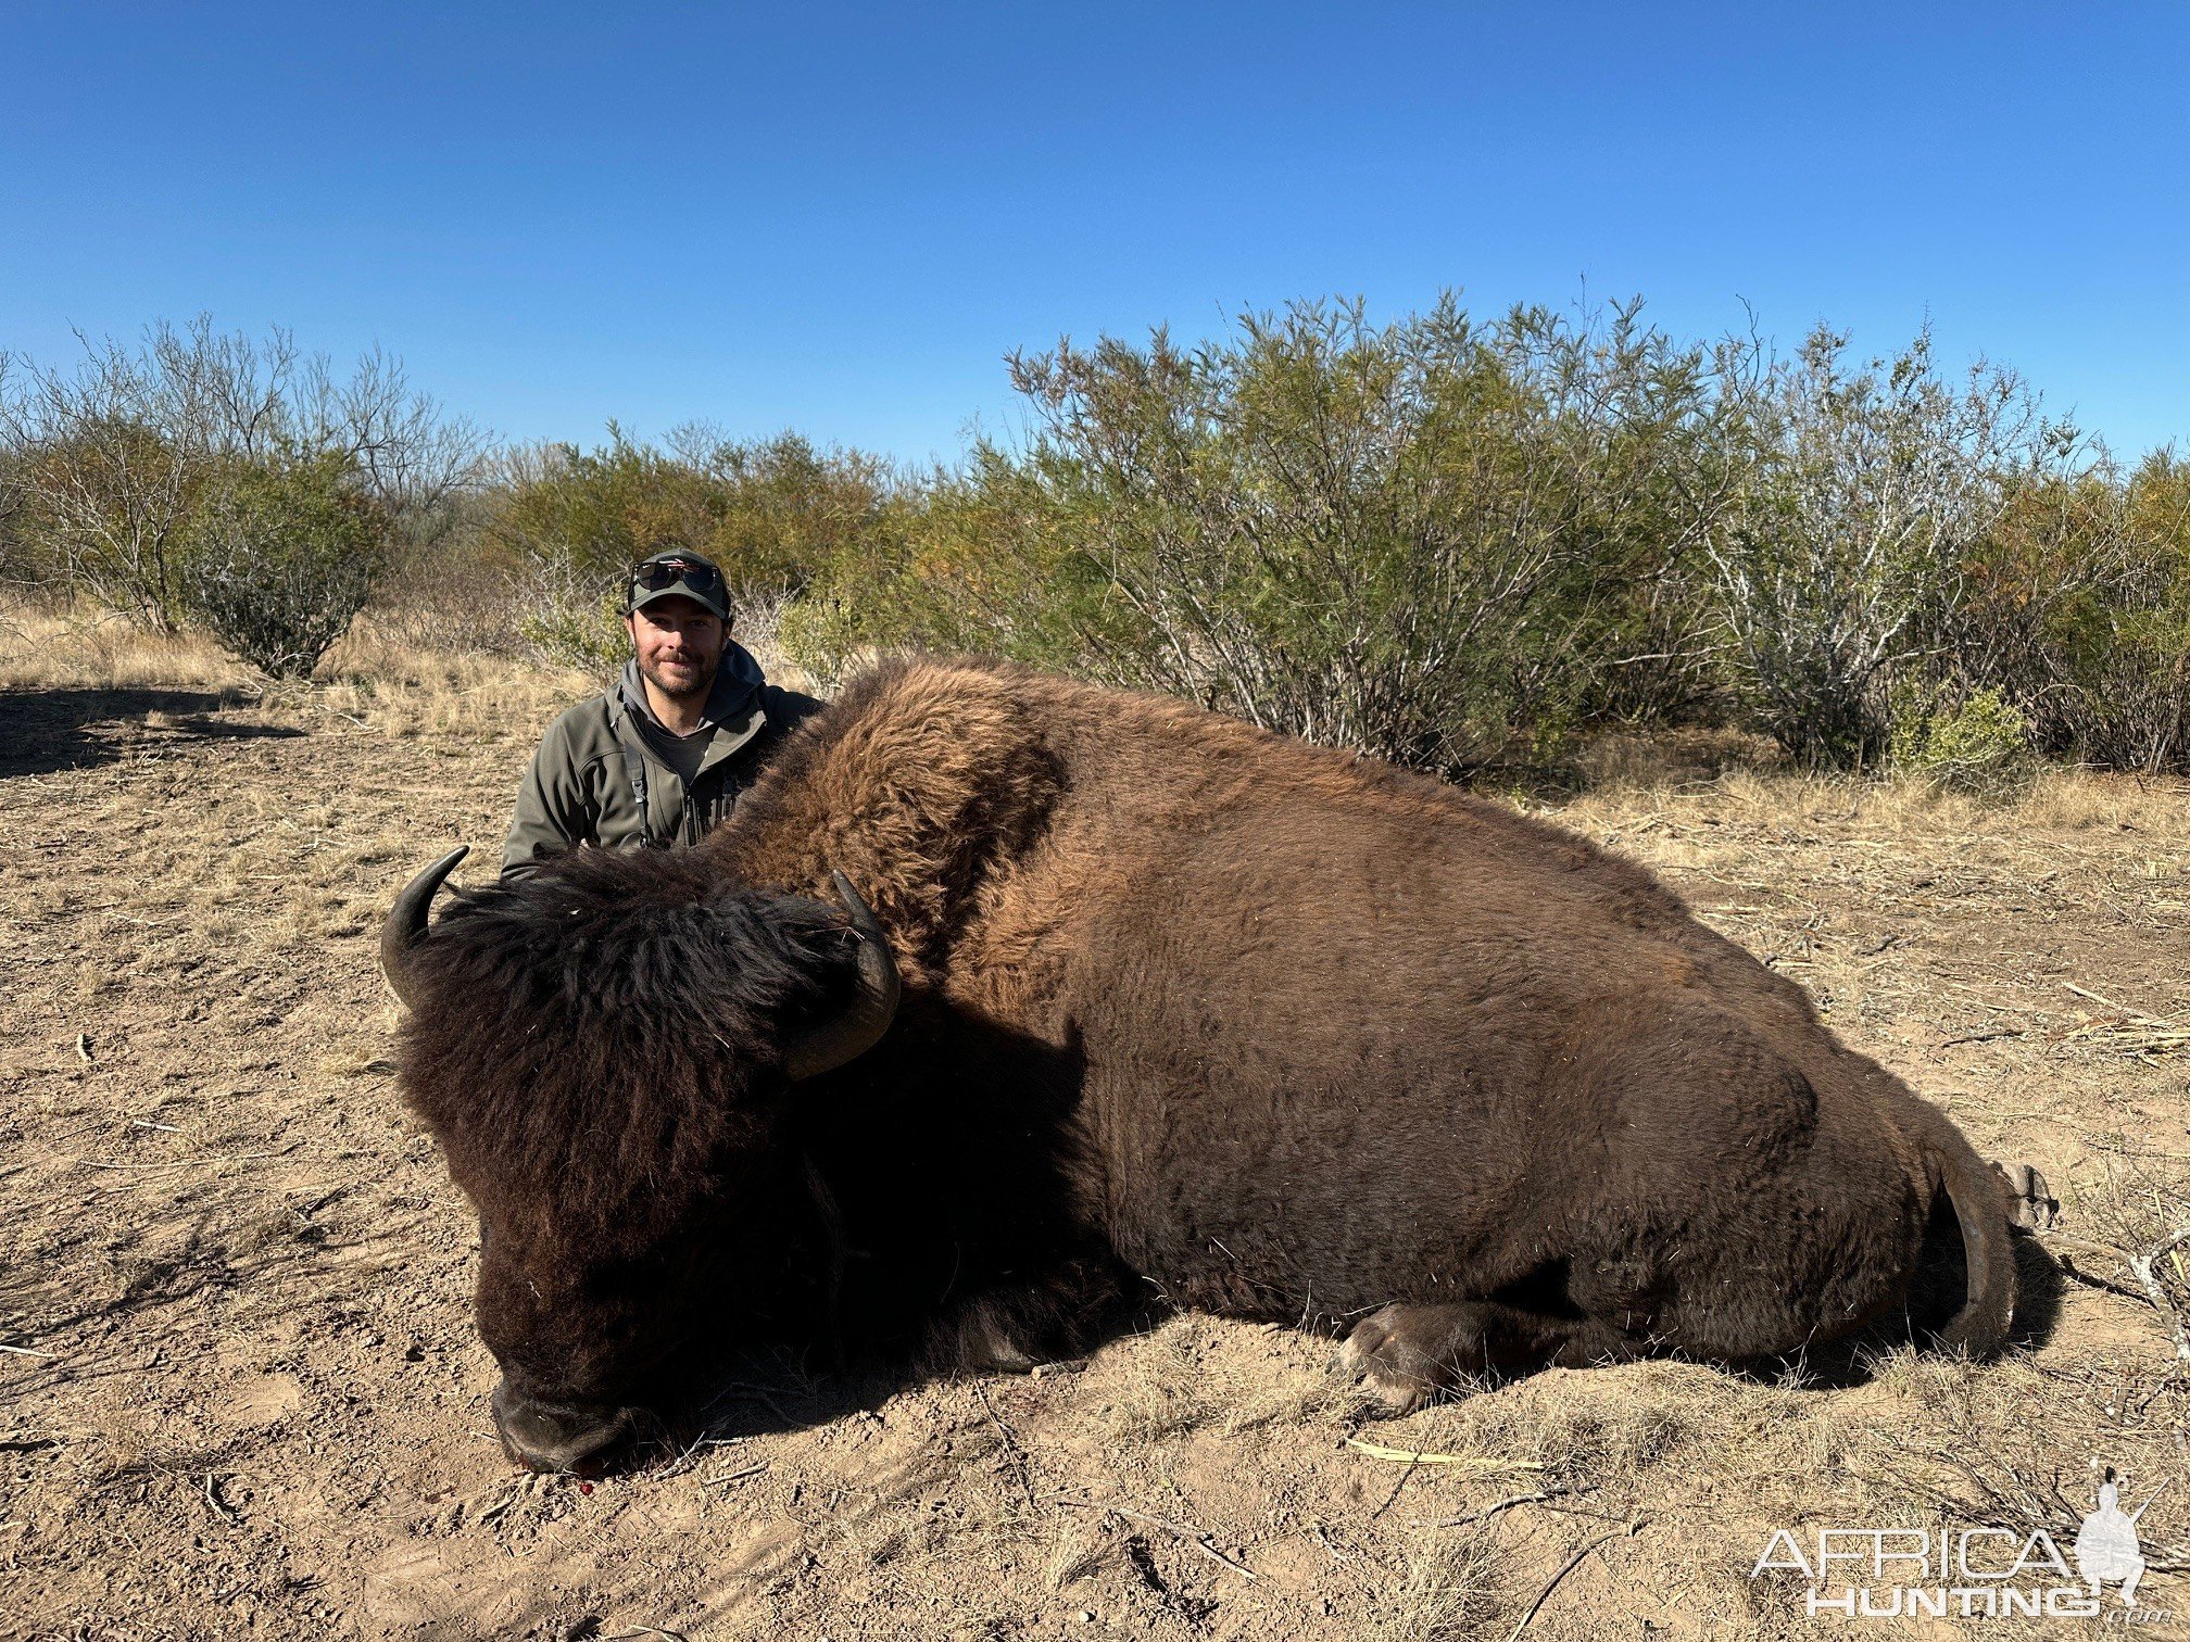
[[1386, 1305], [1353, 1325], [1342, 1360], [1395, 1414], [1474, 1379], [1531, 1368], [1581, 1368], [1634, 1349], [1590, 1318], [1546, 1318], [1491, 1300]]

